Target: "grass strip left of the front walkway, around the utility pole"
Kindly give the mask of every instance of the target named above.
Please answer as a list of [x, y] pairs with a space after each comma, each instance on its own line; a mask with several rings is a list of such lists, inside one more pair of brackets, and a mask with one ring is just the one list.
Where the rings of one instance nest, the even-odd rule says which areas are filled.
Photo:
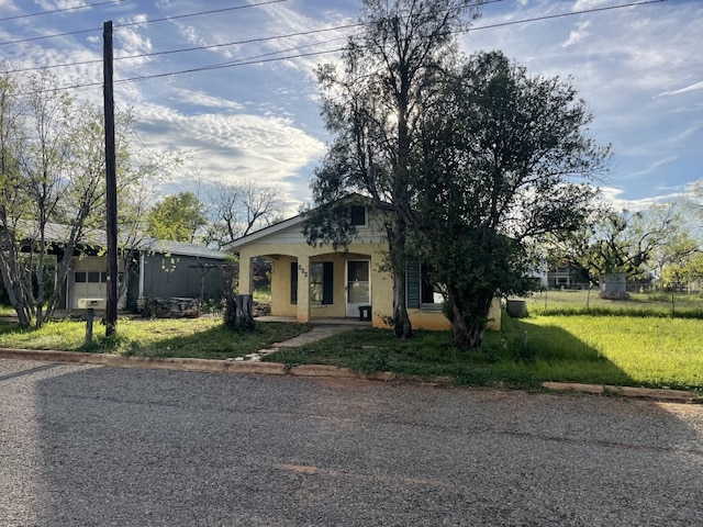
[[242, 357], [308, 330], [302, 324], [257, 323], [253, 333], [232, 333], [220, 318], [120, 319], [118, 333], [104, 336], [93, 325], [93, 341], [86, 345], [85, 322], [48, 322], [40, 329], [20, 329], [0, 322], [0, 347], [90, 351], [142, 357]]

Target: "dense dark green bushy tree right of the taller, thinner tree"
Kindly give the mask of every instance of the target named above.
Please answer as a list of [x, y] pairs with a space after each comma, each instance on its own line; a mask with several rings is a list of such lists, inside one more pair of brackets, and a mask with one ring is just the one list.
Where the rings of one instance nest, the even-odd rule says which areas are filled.
[[[415, 233], [440, 283], [457, 347], [480, 346], [491, 300], [524, 293], [535, 242], [580, 228], [609, 148], [585, 136], [576, 89], [480, 53], [423, 114]], [[574, 182], [578, 178], [579, 183]]]

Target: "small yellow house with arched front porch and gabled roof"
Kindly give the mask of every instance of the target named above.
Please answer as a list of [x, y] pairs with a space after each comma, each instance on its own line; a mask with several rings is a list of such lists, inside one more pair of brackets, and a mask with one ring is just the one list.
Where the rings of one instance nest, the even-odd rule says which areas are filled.
[[[309, 245], [303, 234], [305, 214], [250, 233], [224, 249], [239, 255], [239, 293], [253, 291], [253, 261], [271, 262], [271, 315], [315, 318], [364, 318], [373, 327], [388, 327], [393, 314], [393, 279], [382, 270], [388, 244], [386, 231], [373, 209], [349, 204], [357, 236], [344, 250], [330, 245]], [[423, 283], [423, 268], [406, 272], [408, 313], [413, 327], [447, 329], [442, 296]], [[491, 309], [492, 325], [500, 327], [500, 302]]]

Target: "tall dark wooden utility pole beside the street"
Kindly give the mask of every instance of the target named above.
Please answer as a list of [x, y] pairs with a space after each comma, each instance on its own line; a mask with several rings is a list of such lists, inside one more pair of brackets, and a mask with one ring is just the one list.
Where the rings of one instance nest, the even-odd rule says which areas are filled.
[[118, 329], [118, 170], [114, 147], [114, 92], [112, 79], [112, 21], [103, 24], [103, 96], [105, 112], [105, 201], [108, 235], [108, 303], [105, 336]]

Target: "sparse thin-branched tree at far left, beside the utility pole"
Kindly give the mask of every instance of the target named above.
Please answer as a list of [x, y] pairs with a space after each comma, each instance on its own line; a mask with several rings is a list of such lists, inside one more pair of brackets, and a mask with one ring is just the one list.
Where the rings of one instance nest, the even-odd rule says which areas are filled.
[[[118, 115], [122, 203], [149, 173], [130, 162], [130, 125], [129, 113]], [[49, 74], [0, 76], [0, 274], [23, 325], [51, 316], [86, 233], [104, 228], [103, 137], [100, 110], [78, 104]], [[121, 214], [121, 233], [141, 231], [136, 210]]]

